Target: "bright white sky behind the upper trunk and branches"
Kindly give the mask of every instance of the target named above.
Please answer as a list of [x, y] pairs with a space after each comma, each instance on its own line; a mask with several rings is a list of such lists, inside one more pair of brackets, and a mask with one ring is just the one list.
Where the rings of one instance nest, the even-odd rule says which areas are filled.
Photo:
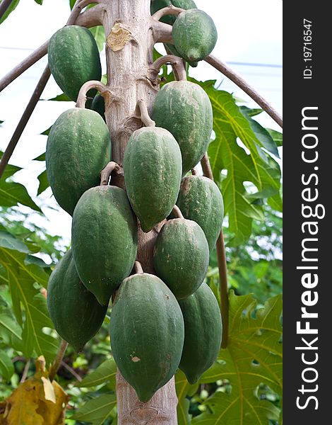
[[[218, 30], [218, 41], [213, 55], [232, 67], [282, 113], [283, 1], [195, 2], [198, 8], [213, 18]], [[69, 0], [44, 0], [42, 6], [34, 0], [20, 0], [16, 10], [0, 26], [0, 78], [64, 26], [69, 12]], [[157, 48], [162, 50], [158, 45]], [[105, 55], [102, 55], [102, 62], [105, 62]], [[8, 145], [46, 64], [47, 57], [44, 57], [0, 92], [0, 120], [4, 121], [0, 126], [1, 150]], [[105, 72], [104, 63], [103, 73]], [[220, 89], [243, 99], [249, 107], [257, 107], [249, 96], [206, 62], [202, 61], [197, 68], [191, 69], [191, 77], [202, 81], [216, 79]], [[52, 98], [57, 94], [61, 94], [61, 89], [51, 77], [41, 98]], [[47, 137], [40, 133], [49, 128], [60, 113], [73, 106], [74, 103], [71, 102], [40, 101], [10, 161], [11, 164], [23, 167], [15, 179], [28, 188], [30, 196], [37, 205], [42, 206], [45, 214], [45, 217], [40, 217], [32, 213], [30, 220], [45, 226], [50, 234], [64, 237], [66, 244], [70, 241], [71, 217], [57, 208], [50, 189], [35, 198], [38, 188], [37, 176], [45, 167], [43, 163], [32, 162], [32, 159], [45, 152]], [[256, 119], [263, 126], [280, 130], [266, 113]], [[31, 212], [29, 208], [22, 210]]]

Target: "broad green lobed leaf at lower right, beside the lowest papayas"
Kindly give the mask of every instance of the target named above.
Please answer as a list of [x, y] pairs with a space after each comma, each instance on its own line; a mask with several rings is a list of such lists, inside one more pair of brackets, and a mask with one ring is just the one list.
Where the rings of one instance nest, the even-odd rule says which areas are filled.
[[230, 336], [218, 361], [201, 377], [201, 383], [229, 380], [230, 393], [215, 392], [206, 399], [208, 407], [192, 424], [257, 425], [278, 420], [280, 409], [259, 399], [259, 385], [282, 392], [281, 297], [270, 298], [256, 310], [251, 295], [230, 294]]

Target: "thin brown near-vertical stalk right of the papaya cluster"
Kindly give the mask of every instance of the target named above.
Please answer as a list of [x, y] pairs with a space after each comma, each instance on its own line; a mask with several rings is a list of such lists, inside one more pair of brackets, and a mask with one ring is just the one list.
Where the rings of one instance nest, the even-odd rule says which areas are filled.
[[[204, 154], [201, 159], [201, 166], [203, 169], [204, 176], [213, 181], [213, 173], [211, 164], [208, 159], [208, 154]], [[228, 342], [228, 327], [229, 327], [229, 297], [228, 297], [228, 284], [227, 284], [227, 262], [226, 252], [224, 244], [223, 229], [220, 230], [220, 235], [217, 239], [216, 244], [217, 259], [218, 259], [218, 270], [219, 270], [219, 288], [220, 288], [220, 302], [221, 302], [221, 317], [223, 319], [223, 339], [221, 341], [221, 347], [226, 348]]]

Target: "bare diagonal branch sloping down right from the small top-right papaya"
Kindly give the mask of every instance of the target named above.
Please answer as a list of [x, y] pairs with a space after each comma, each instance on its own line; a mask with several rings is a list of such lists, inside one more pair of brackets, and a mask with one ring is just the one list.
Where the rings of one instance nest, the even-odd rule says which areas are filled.
[[215, 69], [218, 69], [225, 77], [229, 78], [233, 83], [235, 83], [240, 89], [247, 93], [256, 103], [263, 108], [268, 115], [275, 120], [275, 123], [280, 125], [283, 128], [283, 118], [278, 114], [277, 111], [266, 101], [255, 89], [253, 89], [247, 81], [240, 77], [236, 72], [227, 67], [224, 62], [217, 59], [216, 57], [210, 55], [204, 59], [208, 64], [211, 64]]

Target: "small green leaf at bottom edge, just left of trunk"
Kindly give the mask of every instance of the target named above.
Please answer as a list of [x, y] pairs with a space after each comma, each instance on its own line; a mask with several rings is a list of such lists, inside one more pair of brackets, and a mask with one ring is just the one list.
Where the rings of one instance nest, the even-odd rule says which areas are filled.
[[93, 425], [102, 425], [110, 416], [117, 404], [115, 394], [103, 394], [95, 397], [80, 407], [71, 419], [76, 421], [91, 422]]

